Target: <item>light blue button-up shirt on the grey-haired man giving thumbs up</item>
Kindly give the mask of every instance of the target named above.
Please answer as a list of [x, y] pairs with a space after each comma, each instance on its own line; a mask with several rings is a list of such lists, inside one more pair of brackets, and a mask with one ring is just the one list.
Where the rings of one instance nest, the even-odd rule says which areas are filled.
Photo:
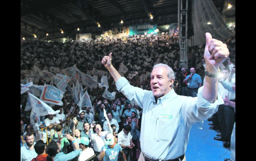
[[213, 104], [203, 99], [202, 87], [198, 97], [180, 96], [172, 89], [157, 103], [152, 91], [131, 86], [124, 77], [117, 80], [116, 87], [143, 109], [141, 150], [152, 159], [175, 159], [185, 154], [191, 126], [210, 118], [224, 103], [219, 94]]

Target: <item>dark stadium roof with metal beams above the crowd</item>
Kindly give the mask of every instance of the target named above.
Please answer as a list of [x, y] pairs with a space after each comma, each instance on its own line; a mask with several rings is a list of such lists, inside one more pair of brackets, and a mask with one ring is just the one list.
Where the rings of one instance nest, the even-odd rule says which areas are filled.
[[[213, 3], [227, 18], [235, 17], [235, 0], [213, 0]], [[226, 11], [224, 6], [228, 3], [233, 6]], [[124, 23], [121, 24], [121, 20]], [[178, 0], [21, 1], [21, 37], [36, 34], [37, 38], [54, 39], [82, 33], [101, 34], [109, 29], [143, 23], [178, 23]]]

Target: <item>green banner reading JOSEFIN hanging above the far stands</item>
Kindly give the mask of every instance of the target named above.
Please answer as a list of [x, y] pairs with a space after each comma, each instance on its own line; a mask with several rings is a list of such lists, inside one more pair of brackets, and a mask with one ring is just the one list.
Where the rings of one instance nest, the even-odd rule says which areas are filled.
[[141, 25], [132, 25], [129, 27], [129, 35], [139, 35], [139, 34], [156, 34], [157, 24], [141, 24]]

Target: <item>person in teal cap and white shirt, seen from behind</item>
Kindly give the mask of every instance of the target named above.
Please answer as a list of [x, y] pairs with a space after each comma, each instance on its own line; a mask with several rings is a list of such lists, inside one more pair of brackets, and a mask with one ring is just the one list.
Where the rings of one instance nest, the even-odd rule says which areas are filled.
[[85, 161], [94, 155], [93, 149], [88, 146], [89, 146], [89, 139], [87, 137], [81, 137], [81, 140], [79, 142], [79, 148], [82, 149], [82, 151], [80, 152], [78, 161]]

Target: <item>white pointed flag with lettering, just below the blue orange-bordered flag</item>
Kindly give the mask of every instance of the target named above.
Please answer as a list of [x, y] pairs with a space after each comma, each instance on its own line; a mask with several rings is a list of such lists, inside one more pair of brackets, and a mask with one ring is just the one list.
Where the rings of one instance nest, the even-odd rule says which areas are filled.
[[60, 110], [54, 111], [50, 106], [48, 106], [42, 100], [39, 100], [36, 96], [32, 95], [31, 93], [29, 93], [28, 95], [32, 107], [30, 114], [30, 123], [35, 122], [35, 119], [37, 119], [37, 122], [41, 124], [40, 116], [46, 116], [49, 114], [55, 115], [60, 112]]

